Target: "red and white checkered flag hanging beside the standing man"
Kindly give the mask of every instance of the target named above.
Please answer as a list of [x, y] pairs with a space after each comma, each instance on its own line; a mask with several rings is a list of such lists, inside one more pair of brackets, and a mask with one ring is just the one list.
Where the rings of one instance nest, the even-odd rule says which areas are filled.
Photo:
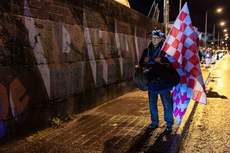
[[201, 73], [196, 38], [188, 10], [184, 4], [162, 47], [180, 75], [180, 83], [172, 90], [173, 113], [180, 124], [190, 99], [206, 104], [207, 97]]

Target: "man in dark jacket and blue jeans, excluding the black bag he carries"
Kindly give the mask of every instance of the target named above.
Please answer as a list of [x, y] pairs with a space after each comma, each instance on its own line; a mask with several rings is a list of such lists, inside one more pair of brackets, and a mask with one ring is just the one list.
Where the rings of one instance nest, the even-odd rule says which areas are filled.
[[[141, 59], [139, 61], [140, 67], [153, 68], [159, 67], [161, 62], [168, 62], [168, 58], [165, 57], [165, 52], [161, 51], [163, 45], [162, 37], [164, 34], [160, 30], [152, 31], [152, 41], [149, 46], [143, 51]], [[150, 75], [151, 76], [151, 75]], [[151, 78], [150, 78], [151, 79]], [[164, 107], [164, 120], [166, 122], [166, 132], [172, 132], [172, 126], [174, 123], [173, 118], [173, 104], [170, 95], [170, 89], [160, 93], [160, 97]], [[149, 108], [151, 115], [151, 124], [149, 129], [155, 129], [159, 126], [157, 100], [158, 94], [148, 90]]]

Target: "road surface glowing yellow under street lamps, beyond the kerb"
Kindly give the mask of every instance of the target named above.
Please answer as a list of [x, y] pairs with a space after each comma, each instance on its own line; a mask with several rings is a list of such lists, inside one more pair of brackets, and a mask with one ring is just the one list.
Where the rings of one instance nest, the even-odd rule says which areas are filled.
[[230, 55], [211, 72], [207, 105], [198, 104], [180, 153], [230, 152]]

